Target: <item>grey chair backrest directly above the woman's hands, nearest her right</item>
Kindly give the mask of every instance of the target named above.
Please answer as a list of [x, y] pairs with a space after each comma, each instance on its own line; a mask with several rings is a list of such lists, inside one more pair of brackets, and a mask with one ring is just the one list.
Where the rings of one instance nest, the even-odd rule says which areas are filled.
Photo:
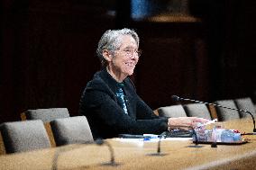
[[178, 105], [170, 105], [165, 107], [160, 107], [158, 109], [160, 117], [187, 117], [187, 114], [181, 104]]

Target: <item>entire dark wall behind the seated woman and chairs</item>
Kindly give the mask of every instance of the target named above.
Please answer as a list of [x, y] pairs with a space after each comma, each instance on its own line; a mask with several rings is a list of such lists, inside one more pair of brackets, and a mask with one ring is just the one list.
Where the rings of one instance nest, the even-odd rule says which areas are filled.
[[174, 104], [172, 94], [255, 102], [255, 7], [254, 0], [3, 0], [0, 121], [50, 107], [78, 115], [80, 95], [100, 69], [97, 41], [123, 27], [141, 38], [133, 80], [152, 109]]

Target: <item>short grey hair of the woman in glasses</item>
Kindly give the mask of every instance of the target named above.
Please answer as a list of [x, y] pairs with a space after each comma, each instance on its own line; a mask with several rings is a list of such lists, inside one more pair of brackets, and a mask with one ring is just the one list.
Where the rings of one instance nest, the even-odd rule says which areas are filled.
[[131, 35], [139, 47], [140, 39], [136, 31], [132, 29], [123, 28], [122, 30], [108, 30], [102, 35], [101, 39], [98, 41], [96, 55], [99, 58], [102, 67], [106, 66], [106, 60], [102, 55], [104, 49], [109, 49], [114, 51], [114, 49], [120, 48], [120, 36], [121, 35]]

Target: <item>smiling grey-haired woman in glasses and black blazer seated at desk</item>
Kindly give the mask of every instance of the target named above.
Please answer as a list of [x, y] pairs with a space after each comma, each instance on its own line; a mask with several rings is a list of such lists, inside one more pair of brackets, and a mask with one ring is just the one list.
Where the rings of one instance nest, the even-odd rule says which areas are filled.
[[208, 120], [195, 117], [161, 118], [136, 94], [128, 76], [139, 61], [139, 37], [130, 29], [105, 31], [98, 42], [102, 70], [87, 83], [79, 113], [87, 117], [94, 139], [118, 134], [160, 134], [168, 128], [196, 126]]

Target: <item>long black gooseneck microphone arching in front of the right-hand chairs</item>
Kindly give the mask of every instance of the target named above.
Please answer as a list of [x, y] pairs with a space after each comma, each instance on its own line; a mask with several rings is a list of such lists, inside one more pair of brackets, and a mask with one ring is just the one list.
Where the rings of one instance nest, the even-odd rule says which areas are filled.
[[[251, 119], [252, 119], [252, 122], [253, 122], [253, 132], [256, 132], [256, 129], [255, 129], [255, 120], [254, 120], [254, 117], [252, 115], [251, 112], [249, 111], [246, 111], [246, 110], [242, 110], [242, 109], [236, 109], [236, 108], [230, 108], [230, 107], [226, 107], [226, 106], [223, 106], [223, 105], [219, 105], [219, 104], [215, 104], [215, 103], [206, 103], [206, 102], [201, 102], [201, 101], [196, 101], [196, 100], [193, 100], [193, 99], [186, 99], [186, 98], [182, 98], [182, 97], [178, 97], [178, 95], [172, 95], [171, 96], [172, 100], [175, 101], [175, 102], [182, 102], [182, 101], [188, 101], [188, 102], [193, 102], [193, 103], [205, 103], [207, 105], [214, 105], [216, 107], [221, 107], [221, 108], [224, 108], [224, 109], [229, 109], [229, 110], [233, 110], [233, 111], [238, 111], [238, 112], [246, 112], [248, 114], [251, 115]], [[252, 133], [252, 134], [256, 134], [256, 133]]]

